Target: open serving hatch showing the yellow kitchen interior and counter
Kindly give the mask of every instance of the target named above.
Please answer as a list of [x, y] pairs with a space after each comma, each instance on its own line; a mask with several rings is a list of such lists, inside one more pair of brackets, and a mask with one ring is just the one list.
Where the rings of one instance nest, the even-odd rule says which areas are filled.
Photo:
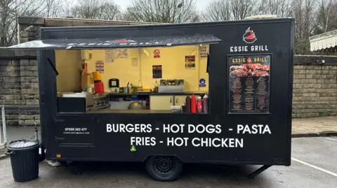
[[209, 45], [55, 50], [58, 112], [209, 113], [208, 54]]

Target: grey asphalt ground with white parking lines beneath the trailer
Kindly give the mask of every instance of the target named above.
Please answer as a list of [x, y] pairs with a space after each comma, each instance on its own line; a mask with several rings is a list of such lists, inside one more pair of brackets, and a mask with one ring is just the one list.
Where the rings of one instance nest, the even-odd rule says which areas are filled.
[[152, 180], [139, 163], [78, 163], [81, 174], [40, 163], [39, 178], [14, 182], [9, 158], [0, 160], [0, 187], [336, 187], [337, 137], [293, 138], [291, 166], [272, 166], [253, 179], [259, 166], [187, 165], [175, 182]]

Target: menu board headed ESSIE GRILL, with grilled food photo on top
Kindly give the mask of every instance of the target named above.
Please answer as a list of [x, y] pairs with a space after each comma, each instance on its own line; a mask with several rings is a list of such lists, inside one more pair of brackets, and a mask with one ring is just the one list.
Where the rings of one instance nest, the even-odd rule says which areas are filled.
[[268, 113], [270, 55], [231, 56], [230, 113]]

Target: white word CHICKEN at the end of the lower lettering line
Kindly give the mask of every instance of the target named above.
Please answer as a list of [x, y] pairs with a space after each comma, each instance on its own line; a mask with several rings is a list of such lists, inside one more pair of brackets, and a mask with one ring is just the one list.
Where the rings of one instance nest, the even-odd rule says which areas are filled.
[[193, 138], [194, 147], [244, 147], [243, 138]]

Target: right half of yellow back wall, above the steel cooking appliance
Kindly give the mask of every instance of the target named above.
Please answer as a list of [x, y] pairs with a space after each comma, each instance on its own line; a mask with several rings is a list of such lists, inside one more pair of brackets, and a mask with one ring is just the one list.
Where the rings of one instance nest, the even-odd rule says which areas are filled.
[[[154, 50], [159, 50], [160, 58], [154, 58]], [[195, 68], [185, 68], [185, 56], [195, 56]], [[183, 79], [185, 91], [197, 91], [199, 88], [198, 45], [173, 48], [143, 48], [141, 52], [143, 86], [153, 88], [157, 80]], [[152, 78], [152, 65], [161, 65], [162, 78]]]

